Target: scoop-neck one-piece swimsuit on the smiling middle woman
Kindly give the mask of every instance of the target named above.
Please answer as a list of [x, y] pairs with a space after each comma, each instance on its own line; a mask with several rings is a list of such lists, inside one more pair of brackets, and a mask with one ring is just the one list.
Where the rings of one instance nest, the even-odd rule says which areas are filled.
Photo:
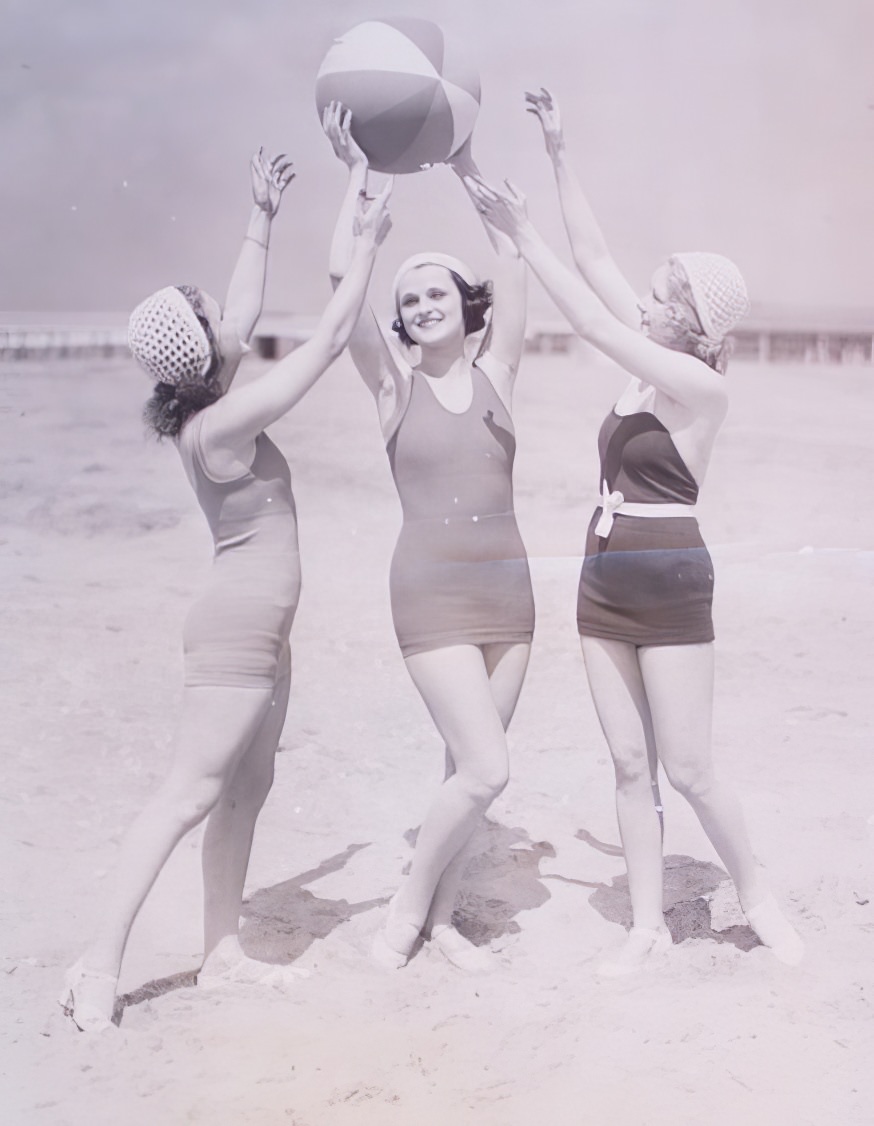
[[530, 642], [534, 598], [516, 522], [512, 421], [491, 379], [471, 369], [473, 399], [454, 412], [411, 370], [407, 409], [387, 443], [403, 509], [390, 591], [404, 656], [463, 643]]

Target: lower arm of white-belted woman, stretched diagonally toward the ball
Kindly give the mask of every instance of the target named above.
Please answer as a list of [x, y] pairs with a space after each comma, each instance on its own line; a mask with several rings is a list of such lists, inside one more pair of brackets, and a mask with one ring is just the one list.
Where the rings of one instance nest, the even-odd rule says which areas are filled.
[[469, 187], [489, 222], [512, 239], [576, 332], [630, 375], [652, 384], [696, 413], [713, 417], [724, 413], [722, 376], [696, 357], [656, 343], [614, 316], [539, 236], [527, 216], [521, 193], [512, 186], [501, 193], [482, 180], [470, 180]]

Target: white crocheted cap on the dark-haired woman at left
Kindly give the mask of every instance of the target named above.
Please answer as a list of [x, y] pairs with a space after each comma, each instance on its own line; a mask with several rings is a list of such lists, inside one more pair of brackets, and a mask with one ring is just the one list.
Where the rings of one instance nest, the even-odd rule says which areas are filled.
[[213, 361], [206, 330], [177, 286], [159, 289], [136, 306], [127, 343], [153, 379], [172, 386], [202, 378]]

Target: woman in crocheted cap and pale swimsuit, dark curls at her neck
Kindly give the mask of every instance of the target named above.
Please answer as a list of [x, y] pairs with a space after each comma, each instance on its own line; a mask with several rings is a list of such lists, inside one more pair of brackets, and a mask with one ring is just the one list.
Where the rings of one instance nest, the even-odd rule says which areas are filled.
[[209, 525], [215, 556], [184, 627], [185, 688], [170, 771], [132, 824], [95, 941], [69, 971], [61, 1002], [80, 1029], [110, 1026], [125, 944], [180, 839], [206, 819], [202, 985], [280, 984], [238, 938], [255, 822], [273, 783], [291, 680], [288, 635], [301, 586], [288, 465], [265, 428], [340, 355], [358, 318], [389, 189], [350, 216], [349, 269], [310, 339], [242, 387], [232, 386], [260, 315], [270, 223], [292, 179], [285, 158], [252, 160], [255, 209], [224, 309], [169, 286], [133, 312], [131, 349], [155, 381], [150, 427], [176, 443]]

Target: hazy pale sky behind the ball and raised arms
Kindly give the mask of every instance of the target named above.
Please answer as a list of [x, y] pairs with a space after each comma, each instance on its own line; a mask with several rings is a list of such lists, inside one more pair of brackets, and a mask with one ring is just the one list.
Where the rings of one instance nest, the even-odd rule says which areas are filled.
[[[716, 250], [757, 301], [874, 306], [871, 0], [0, 0], [0, 12], [2, 310], [126, 310], [182, 282], [221, 300], [264, 144], [297, 171], [266, 307], [318, 313], [346, 171], [315, 75], [336, 36], [401, 14], [438, 23], [478, 69], [474, 155], [525, 190], [562, 257], [523, 97], [539, 86], [639, 289], [670, 252]], [[399, 178], [392, 214], [383, 294], [419, 250], [488, 274], [446, 168]]]

